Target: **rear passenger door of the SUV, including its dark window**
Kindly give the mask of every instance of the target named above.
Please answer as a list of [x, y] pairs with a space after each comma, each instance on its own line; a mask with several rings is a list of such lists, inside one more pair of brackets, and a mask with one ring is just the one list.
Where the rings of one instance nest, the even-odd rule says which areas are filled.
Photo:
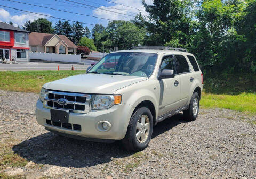
[[188, 61], [183, 55], [175, 55], [176, 63], [178, 67], [178, 76], [180, 77], [180, 99], [181, 105], [185, 106], [190, 100], [189, 91], [194, 81], [193, 73], [191, 73], [188, 65]]

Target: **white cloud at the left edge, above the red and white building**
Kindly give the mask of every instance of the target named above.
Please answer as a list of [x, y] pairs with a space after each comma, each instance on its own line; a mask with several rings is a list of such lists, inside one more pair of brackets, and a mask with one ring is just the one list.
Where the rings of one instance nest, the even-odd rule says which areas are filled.
[[[17, 14], [17, 13], [15, 13]], [[0, 8], [0, 21], [2, 22], [7, 22], [9, 23], [10, 21], [12, 21], [14, 26], [22, 26], [26, 21], [30, 20], [31, 22], [33, 22], [34, 20], [38, 19], [38, 18], [45, 18], [45, 16], [43, 15], [37, 15], [37, 14], [32, 14], [32, 13], [26, 13], [23, 14], [22, 12], [19, 12], [20, 15], [11, 15], [9, 13], [9, 11], [6, 11], [3, 8]], [[45, 13], [41, 13], [44, 15], [47, 15]]]

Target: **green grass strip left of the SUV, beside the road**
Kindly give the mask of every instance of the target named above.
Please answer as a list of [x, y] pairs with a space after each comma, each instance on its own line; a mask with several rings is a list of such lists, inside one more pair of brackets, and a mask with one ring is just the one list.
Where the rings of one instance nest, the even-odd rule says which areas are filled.
[[[85, 73], [86, 71], [81, 71]], [[0, 89], [39, 93], [43, 84], [81, 74], [80, 71], [3, 71], [0, 72]]]

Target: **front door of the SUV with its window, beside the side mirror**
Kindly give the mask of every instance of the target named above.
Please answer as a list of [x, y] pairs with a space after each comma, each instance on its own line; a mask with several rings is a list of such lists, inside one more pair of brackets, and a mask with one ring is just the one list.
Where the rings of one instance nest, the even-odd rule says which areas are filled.
[[[162, 71], [163, 69], [174, 70], [174, 74], [177, 73], [174, 55], [166, 55], [163, 57], [159, 71]], [[180, 107], [179, 81], [180, 77], [176, 75], [174, 78], [159, 80], [160, 98], [158, 116], [171, 112], [172, 110], [175, 110]]]

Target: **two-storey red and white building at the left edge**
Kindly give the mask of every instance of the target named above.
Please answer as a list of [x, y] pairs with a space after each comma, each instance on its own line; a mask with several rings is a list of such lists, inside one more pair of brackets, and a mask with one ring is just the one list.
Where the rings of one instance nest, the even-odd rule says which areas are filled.
[[0, 59], [29, 61], [29, 31], [0, 22]]

